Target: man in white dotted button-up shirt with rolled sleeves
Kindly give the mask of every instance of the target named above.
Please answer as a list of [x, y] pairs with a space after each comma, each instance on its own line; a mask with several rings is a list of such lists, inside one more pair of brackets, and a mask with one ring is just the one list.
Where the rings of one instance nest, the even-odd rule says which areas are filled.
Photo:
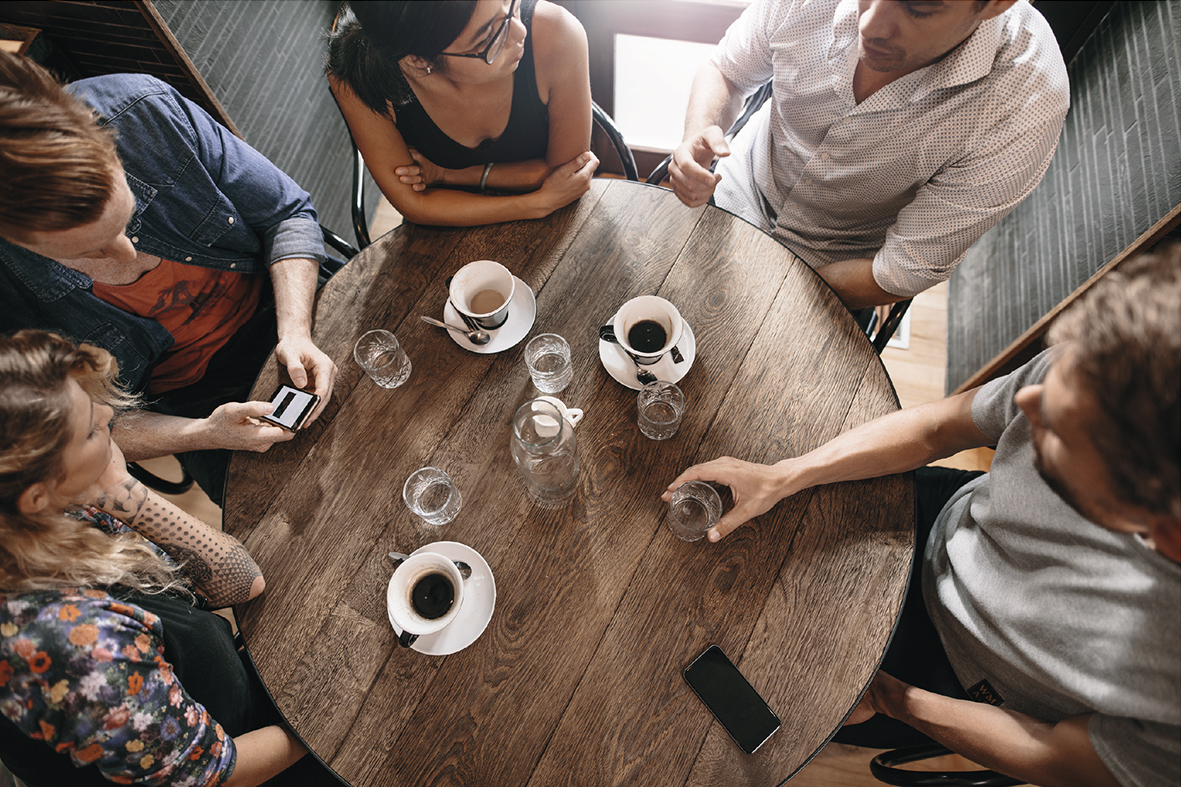
[[1033, 190], [1069, 105], [1053, 33], [1024, 0], [757, 0], [698, 71], [668, 173], [685, 204], [712, 195], [849, 308], [876, 306], [947, 279]]

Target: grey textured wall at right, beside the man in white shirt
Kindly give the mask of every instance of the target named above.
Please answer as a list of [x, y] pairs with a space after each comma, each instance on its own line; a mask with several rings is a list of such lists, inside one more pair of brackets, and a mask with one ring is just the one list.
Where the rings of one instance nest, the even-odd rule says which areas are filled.
[[1181, 203], [1181, 0], [1117, 2], [1069, 72], [1045, 178], [952, 277], [948, 391]]

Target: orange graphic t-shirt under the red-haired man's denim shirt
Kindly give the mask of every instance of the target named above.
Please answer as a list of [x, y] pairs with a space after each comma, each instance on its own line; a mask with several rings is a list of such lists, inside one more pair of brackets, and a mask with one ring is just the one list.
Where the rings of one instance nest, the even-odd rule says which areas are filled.
[[214, 353], [254, 317], [263, 279], [162, 259], [131, 284], [96, 281], [93, 293], [116, 308], [156, 320], [172, 334], [175, 344], [156, 363], [148, 385], [150, 395], [159, 395], [201, 379]]

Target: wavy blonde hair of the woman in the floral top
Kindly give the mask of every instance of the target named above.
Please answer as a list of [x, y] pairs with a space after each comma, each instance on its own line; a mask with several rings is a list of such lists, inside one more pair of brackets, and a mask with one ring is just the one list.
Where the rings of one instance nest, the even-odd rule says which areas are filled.
[[20, 495], [64, 471], [73, 379], [92, 399], [126, 409], [118, 364], [99, 347], [45, 331], [0, 337], [0, 591], [124, 585], [183, 588], [177, 570], [137, 534], [109, 535], [65, 510], [20, 510]]

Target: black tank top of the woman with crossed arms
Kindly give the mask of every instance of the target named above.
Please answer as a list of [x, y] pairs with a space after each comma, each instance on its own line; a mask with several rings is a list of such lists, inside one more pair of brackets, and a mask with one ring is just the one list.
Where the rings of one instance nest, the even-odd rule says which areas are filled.
[[533, 11], [537, 0], [521, 0], [521, 22], [527, 31], [524, 56], [513, 73], [513, 109], [504, 132], [477, 148], [461, 145], [443, 134], [415, 98], [394, 108], [398, 132], [406, 144], [438, 167], [463, 169], [488, 162], [544, 158], [549, 147], [549, 111], [537, 95], [537, 69], [533, 61]]

